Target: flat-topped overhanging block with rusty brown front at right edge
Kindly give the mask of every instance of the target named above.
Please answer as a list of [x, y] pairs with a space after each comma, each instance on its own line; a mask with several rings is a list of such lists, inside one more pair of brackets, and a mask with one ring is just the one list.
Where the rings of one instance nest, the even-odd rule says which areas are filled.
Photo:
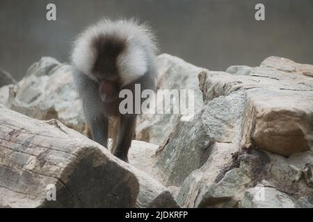
[[[245, 89], [243, 146], [253, 144], [289, 156], [313, 147], [313, 82], [300, 71], [301, 65], [279, 61], [280, 67], [274, 69], [273, 58], [268, 58], [260, 67], [250, 68], [248, 76], [209, 71], [200, 73], [199, 80], [204, 100]], [[282, 61], [287, 63], [285, 69]]]

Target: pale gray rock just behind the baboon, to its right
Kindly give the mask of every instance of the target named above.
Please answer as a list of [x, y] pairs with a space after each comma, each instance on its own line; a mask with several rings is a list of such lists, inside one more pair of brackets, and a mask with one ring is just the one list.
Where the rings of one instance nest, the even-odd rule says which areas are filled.
[[[203, 69], [168, 54], [158, 56], [157, 62], [158, 89], [193, 89], [195, 110], [200, 109], [203, 101], [197, 76]], [[179, 114], [144, 114], [138, 119], [136, 139], [161, 144], [173, 132], [180, 118]]]

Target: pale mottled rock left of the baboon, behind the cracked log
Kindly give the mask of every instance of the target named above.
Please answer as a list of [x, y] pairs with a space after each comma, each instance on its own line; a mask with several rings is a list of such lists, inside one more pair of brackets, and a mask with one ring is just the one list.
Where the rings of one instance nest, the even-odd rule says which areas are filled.
[[8, 107], [35, 119], [58, 119], [83, 133], [86, 124], [72, 78], [70, 65], [44, 57], [12, 87]]

